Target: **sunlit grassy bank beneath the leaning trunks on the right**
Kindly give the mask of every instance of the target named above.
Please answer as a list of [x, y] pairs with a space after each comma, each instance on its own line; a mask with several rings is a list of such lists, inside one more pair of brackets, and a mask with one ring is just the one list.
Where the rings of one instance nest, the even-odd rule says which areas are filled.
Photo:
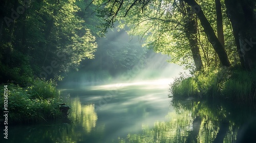
[[170, 84], [170, 97], [221, 98], [256, 101], [256, 69], [238, 67], [205, 69], [193, 76], [180, 75]]

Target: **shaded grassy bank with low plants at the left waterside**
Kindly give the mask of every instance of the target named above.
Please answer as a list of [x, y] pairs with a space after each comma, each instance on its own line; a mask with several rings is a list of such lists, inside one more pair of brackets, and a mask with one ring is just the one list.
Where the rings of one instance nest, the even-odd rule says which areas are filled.
[[[45, 122], [60, 117], [58, 102], [61, 101], [59, 91], [53, 81], [35, 80], [28, 87], [19, 87], [14, 84], [5, 84], [8, 88], [8, 122], [35, 123]], [[4, 106], [4, 86], [0, 105]], [[1, 107], [1, 113], [4, 112]]]

